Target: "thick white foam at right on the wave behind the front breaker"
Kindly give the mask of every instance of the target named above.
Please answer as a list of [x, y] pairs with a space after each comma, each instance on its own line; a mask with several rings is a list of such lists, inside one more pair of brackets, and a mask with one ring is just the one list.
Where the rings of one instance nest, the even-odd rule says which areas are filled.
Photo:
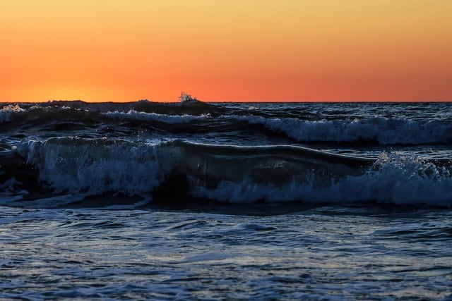
[[237, 116], [252, 124], [285, 133], [300, 142], [376, 141], [382, 145], [417, 145], [452, 141], [452, 123], [373, 117], [354, 120], [306, 121], [298, 118]]

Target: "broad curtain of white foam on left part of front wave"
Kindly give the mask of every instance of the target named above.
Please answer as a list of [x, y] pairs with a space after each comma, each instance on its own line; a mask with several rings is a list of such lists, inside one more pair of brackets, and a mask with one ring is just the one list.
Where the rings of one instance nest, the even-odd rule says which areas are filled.
[[28, 142], [20, 149], [40, 180], [56, 192], [141, 195], [151, 192], [172, 168], [172, 153], [158, 145], [78, 138]]

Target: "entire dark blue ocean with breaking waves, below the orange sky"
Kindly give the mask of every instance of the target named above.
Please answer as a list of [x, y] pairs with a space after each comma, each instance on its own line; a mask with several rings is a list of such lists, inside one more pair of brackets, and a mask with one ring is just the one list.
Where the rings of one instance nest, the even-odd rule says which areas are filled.
[[1, 300], [452, 300], [451, 104], [0, 108]]

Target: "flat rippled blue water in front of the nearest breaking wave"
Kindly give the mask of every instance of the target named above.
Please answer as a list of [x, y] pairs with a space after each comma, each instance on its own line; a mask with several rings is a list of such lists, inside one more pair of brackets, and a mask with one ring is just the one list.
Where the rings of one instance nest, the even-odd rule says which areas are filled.
[[444, 300], [451, 217], [2, 207], [0, 298]]

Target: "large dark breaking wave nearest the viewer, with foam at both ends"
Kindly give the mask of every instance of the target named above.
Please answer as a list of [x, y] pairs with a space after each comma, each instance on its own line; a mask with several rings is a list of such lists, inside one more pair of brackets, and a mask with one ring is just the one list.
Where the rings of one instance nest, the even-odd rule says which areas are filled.
[[65, 207], [77, 202], [96, 206], [96, 196], [132, 198], [140, 206], [196, 202], [452, 206], [451, 161], [446, 159], [383, 153], [375, 160], [285, 145], [79, 137], [24, 141], [13, 148], [0, 154], [4, 183], [0, 199], [9, 206]]

